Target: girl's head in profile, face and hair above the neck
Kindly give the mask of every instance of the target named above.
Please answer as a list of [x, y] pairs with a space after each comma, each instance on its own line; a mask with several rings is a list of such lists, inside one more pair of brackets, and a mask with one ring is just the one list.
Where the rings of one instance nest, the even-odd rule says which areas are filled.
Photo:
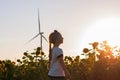
[[54, 45], [63, 43], [63, 37], [62, 37], [61, 33], [58, 32], [57, 30], [54, 30], [54, 32], [52, 32], [49, 35], [49, 42]]

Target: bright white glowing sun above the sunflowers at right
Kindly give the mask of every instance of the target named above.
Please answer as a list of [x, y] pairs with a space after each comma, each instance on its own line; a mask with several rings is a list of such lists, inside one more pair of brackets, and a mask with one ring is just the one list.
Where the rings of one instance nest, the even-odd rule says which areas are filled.
[[94, 41], [107, 41], [110, 46], [120, 46], [120, 18], [102, 18], [94, 21], [83, 35], [83, 48]]

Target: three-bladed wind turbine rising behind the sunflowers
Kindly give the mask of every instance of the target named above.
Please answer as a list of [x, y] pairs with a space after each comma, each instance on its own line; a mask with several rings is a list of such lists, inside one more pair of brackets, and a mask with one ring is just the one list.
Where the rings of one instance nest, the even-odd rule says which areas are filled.
[[41, 52], [42, 52], [42, 50], [43, 50], [43, 47], [42, 47], [42, 38], [44, 38], [46, 41], [47, 41], [47, 39], [45, 38], [45, 36], [43, 36], [44, 32], [41, 32], [40, 18], [39, 18], [39, 9], [38, 9], [38, 28], [39, 28], [39, 33], [37, 35], [35, 35], [32, 39], [30, 39], [28, 42], [31, 42], [33, 39], [35, 39], [36, 37], [38, 37], [40, 35], [40, 47], [41, 47]]

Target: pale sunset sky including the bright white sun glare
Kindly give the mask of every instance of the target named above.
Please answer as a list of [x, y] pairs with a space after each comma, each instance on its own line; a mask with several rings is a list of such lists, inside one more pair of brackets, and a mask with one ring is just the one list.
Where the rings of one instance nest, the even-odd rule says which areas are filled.
[[[67, 56], [80, 55], [93, 41], [119, 43], [119, 4], [119, 0], [0, 0], [0, 59], [16, 60], [40, 46], [39, 37], [25, 44], [38, 34], [38, 8], [43, 35], [48, 39], [58, 30]], [[43, 40], [46, 55], [48, 46]]]

